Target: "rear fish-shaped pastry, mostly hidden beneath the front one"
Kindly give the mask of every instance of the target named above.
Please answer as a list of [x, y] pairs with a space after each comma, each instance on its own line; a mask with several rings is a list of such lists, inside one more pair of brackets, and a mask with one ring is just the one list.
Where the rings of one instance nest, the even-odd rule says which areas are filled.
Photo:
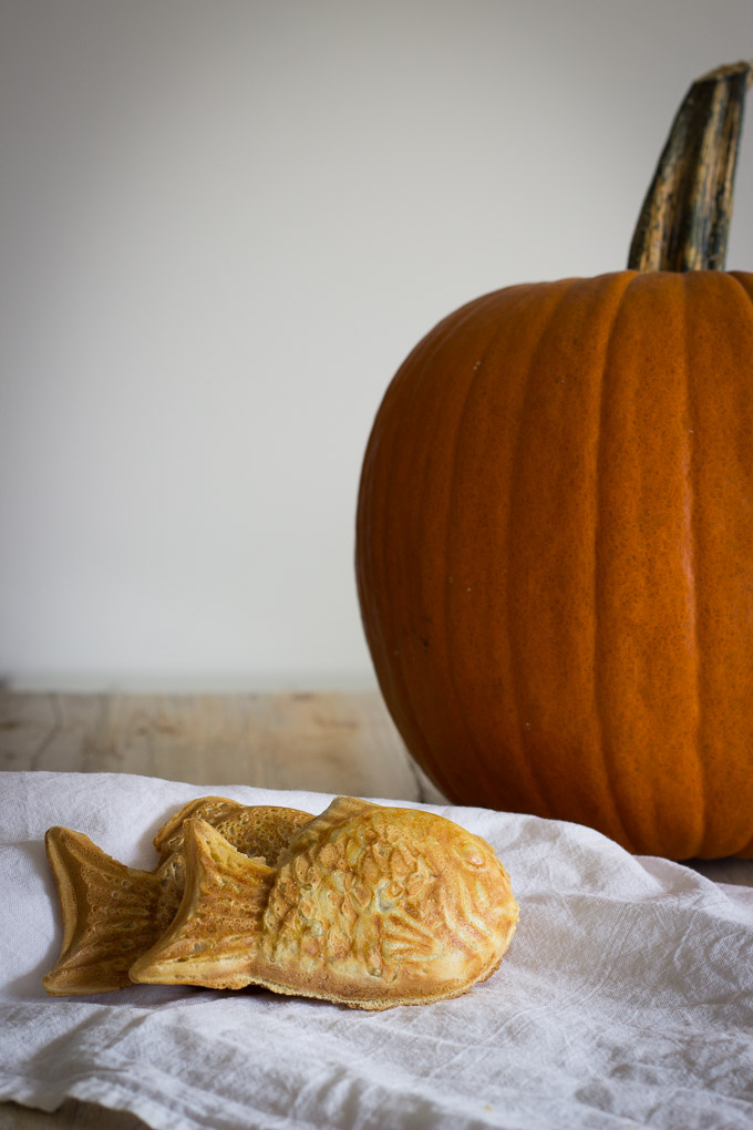
[[42, 979], [47, 993], [67, 997], [131, 985], [129, 968], [173, 921], [183, 895], [184, 825], [201, 818], [224, 842], [273, 866], [290, 837], [313, 816], [292, 808], [245, 806], [225, 797], [190, 801], [155, 836], [155, 871], [126, 867], [81, 832], [45, 835], [63, 923], [60, 956]]

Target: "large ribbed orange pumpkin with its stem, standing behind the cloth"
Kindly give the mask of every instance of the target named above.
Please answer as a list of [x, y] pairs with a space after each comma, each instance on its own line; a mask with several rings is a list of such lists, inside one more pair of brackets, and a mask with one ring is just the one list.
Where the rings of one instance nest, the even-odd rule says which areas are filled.
[[506, 288], [420, 342], [358, 504], [379, 685], [446, 796], [674, 859], [753, 855], [753, 275], [686, 269], [724, 258], [748, 72], [691, 88], [640, 269]]

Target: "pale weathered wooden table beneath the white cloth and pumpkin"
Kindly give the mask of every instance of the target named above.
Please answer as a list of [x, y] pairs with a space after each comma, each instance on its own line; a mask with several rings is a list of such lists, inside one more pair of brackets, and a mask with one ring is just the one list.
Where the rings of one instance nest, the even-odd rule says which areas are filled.
[[[0, 694], [0, 770], [139, 773], [193, 784], [419, 800], [444, 798], [408, 757], [376, 693]], [[753, 861], [693, 864], [753, 886]], [[0, 1103], [0, 1130], [143, 1130], [67, 1099], [52, 1114]]]

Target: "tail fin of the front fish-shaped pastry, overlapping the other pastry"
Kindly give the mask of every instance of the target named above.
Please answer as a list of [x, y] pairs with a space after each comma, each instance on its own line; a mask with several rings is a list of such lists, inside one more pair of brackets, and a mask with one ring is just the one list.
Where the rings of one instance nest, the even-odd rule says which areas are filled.
[[131, 967], [147, 984], [242, 989], [253, 980], [277, 871], [236, 851], [210, 824], [185, 822], [185, 889], [167, 932]]

